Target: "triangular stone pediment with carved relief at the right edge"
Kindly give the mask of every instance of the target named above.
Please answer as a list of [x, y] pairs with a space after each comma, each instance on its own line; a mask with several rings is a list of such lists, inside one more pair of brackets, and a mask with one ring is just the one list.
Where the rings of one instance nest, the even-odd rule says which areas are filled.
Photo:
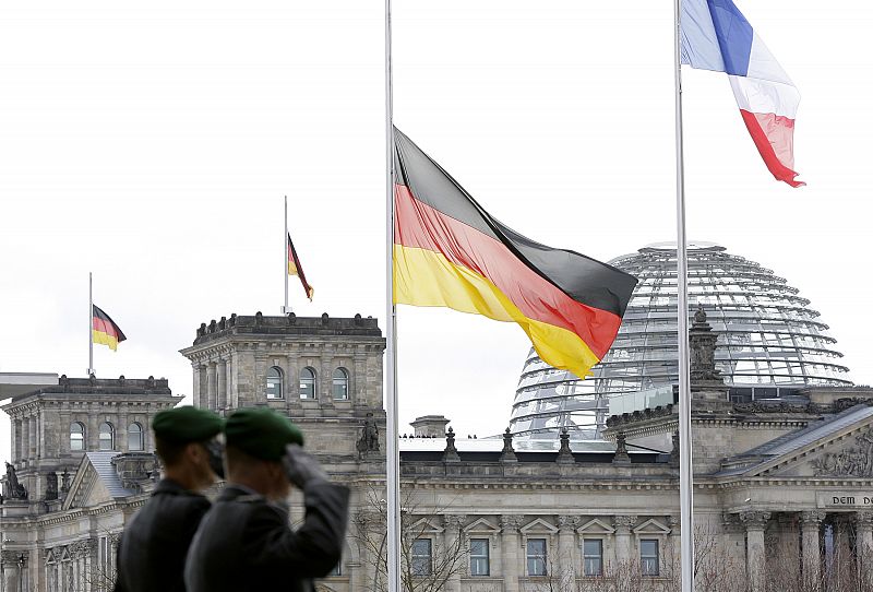
[[854, 407], [726, 459], [716, 476], [873, 478], [873, 409]]

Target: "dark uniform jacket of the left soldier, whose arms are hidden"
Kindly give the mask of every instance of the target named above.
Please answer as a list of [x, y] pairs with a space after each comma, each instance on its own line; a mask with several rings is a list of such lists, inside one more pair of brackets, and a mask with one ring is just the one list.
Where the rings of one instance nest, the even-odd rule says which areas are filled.
[[210, 500], [163, 479], [124, 529], [116, 592], [184, 592], [184, 558]]

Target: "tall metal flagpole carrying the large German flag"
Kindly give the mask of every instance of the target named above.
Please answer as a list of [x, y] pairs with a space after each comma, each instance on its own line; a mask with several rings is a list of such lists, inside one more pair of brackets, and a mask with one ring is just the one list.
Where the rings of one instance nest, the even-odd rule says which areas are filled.
[[387, 426], [387, 579], [400, 592], [400, 454], [397, 449], [397, 307], [394, 306], [394, 88], [391, 64], [391, 0], [385, 0], [385, 407]]

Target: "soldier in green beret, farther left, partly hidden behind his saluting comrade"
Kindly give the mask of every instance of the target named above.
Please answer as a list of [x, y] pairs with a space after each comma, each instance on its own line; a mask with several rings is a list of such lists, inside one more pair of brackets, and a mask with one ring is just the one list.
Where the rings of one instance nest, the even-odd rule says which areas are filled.
[[214, 413], [191, 406], [155, 415], [152, 429], [164, 478], [124, 529], [116, 592], [184, 591], [188, 546], [210, 509], [210, 500], [198, 492], [222, 474], [222, 447], [215, 438], [223, 427]]

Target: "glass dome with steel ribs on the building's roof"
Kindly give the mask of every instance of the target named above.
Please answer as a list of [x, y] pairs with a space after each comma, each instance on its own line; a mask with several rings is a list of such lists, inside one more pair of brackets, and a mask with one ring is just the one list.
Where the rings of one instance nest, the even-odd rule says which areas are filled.
[[[785, 279], [715, 244], [689, 244], [687, 252], [689, 315], [702, 306], [718, 333], [716, 363], [732, 399], [851, 384], [827, 324]], [[610, 398], [663, 396], [679, 382], [675, 244], [649, 245], [610, 264], [639, 280], [615, 343], [587, 380], [543, 364], [531, 350], [510, 423], [519, 437], [557, 438], [566, 427], [574, 439], [598, 438]]]

